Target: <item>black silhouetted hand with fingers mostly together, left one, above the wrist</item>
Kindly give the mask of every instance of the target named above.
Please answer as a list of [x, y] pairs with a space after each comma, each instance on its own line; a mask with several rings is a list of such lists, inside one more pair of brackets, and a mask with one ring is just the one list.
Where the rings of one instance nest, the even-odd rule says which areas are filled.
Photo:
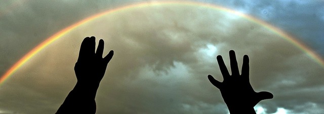
[[99, 84], [105, 74], [107, 64], [113, 56], [111, 50], [104, 58], [102, 58], [104, 41], [101, 39], [97, 51], [96, 38], [86, 37], [81, 44], [79, 57], [74, 66], [75, 75], [78, 83]]

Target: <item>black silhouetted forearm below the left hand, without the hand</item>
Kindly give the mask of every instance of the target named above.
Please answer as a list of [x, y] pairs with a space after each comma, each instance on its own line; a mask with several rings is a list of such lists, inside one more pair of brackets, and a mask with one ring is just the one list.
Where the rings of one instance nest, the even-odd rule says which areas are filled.
[[98, 85], [76, 83], [56, 113], [96, 113]]

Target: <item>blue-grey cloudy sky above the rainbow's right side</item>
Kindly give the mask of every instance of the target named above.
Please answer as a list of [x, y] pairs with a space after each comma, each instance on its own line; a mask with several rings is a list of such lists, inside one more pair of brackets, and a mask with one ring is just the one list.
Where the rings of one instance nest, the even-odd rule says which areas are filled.
[[324, 56], [323, 1], [205, 1], [252, 15], [277, 26]]

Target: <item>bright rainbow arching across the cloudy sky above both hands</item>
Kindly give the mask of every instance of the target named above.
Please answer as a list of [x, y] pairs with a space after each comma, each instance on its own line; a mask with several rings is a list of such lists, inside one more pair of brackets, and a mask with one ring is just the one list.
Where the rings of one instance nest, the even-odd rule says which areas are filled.
[[304, 51], [310, 58], [314, 59], [318, 64], [324, 67], [324, 61], [320, 58], [319, 55], [317, 55], [314, 51], [312, 51], [310, 48], [305, 46], [304, 44], [300, 43], [297, 41], [293, 36], [285, 33], [284, 31], [280, 30], [279, 28], [276, 28], [262, 20], [259, 20], [255, 17], [246, 15], [244, 13], [240, 13], [231, 9], [227, 9], [221, 6], [217, 5], [212, 5], [208, 3], [198, 3], [198, 2], [150, 2], [150, 3], [139, 3], [139, 4], [134, 4], [134, 5], [129, 5], [129, 6], [124, 6], [124, 7], [119, 7], [111, 10], [107, 10], [98, 14], [95, 14], [91, 17], [88, 17], [86, 19], [83, 19], [79, 22], [76, 22], [59, 32], [55, 33], [54, 35], [50, 36], [48, 39], [46, 39], [44, 42], [33, 48], [31, 51], [29, 51], [26, 55], [24, 55], [20, 60], [18, 60], [5, 74], [2, 75], [0, 78], [0, 84], [2, 84], [6, 79], [10, 77], [17, 69], [19, 69], [24, 63], [26, 63], [31, 57], [33, 57], [35, 54], [37, 54], [39, 51], [44, 49], [46, 46], [50, 45], [51, 43], [55, 42], [56, 40], [60, 39], [61, 36], [67, 34], [74, 28], [77, 28], [78, 26], [84, 25], [88, 22], [91, 22], [92, 20], [98, 19], [104, 15], [112, 14], [112, 13], [118, 13], [121, 11], [125, 10], [131, 10], [131, 9], [136, 9], [136, 8], [144, 8], [144, 7], [152, 7], [152, 6], [160, 6], [160, 5], [187, 5], [187, 6], [199, 6], [199, 7], [204, 7], [208, 9], [214, 9], [218, 11], [223, 11], [226, 13], [231, 13], [240, 17], [244, 17], [245, 19], [255, 22], [257, 24], [260, 24], [267, 28], [268, 30], [278, 34], [279, 36], [282, 36], [282, 38], [286, 39], [287, 41], [291, 42], [293, 45], [296, 47], [299, 47], [302, 51]]

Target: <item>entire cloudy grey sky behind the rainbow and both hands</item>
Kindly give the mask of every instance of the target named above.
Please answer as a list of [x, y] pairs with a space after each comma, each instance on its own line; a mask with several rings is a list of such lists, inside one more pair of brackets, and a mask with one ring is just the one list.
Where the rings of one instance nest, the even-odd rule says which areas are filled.
[[[0, 75], [58, 31], [100, 12], [163, 1], [1, 1]], [[176, 1], [178, 3], [183, 1]], [[269, 23], [324, 57], [323, 1], [194, 1], [221, 6]], [[0, 84], [0, 113], [55, 113], [76, 78], [84, 37], [114, 50], [97, 92], [97, 113], [228, 113], [217, 88], [216, 61], [239, 68], [250, 57], [250, 82], [273, 99], [257, 113], [321, 113], [323, 64], [262, 24], [199, 5], [130, 8], [78, 26], [30, 58]], [[230, 69], [229, 69], [230, 70]]]

